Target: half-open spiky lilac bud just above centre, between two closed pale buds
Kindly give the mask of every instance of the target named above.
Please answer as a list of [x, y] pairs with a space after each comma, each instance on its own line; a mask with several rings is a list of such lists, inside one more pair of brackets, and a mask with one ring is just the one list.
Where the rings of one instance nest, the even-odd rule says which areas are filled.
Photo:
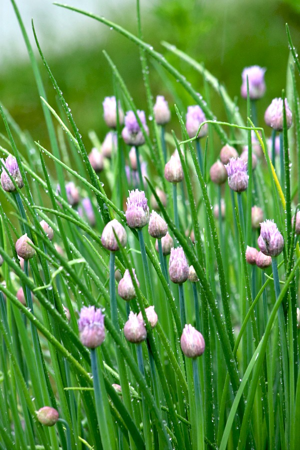
[[149, 222], [149, 208], [143, 190], [129, 191], [126, 205], [126, 220], [130, 228], [142, 228]]

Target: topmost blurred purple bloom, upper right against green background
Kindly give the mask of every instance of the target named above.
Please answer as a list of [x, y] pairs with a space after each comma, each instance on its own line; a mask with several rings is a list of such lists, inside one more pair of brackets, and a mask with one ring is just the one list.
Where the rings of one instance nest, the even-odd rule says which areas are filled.
[[251, 100], [257, 100], [261, 98], [265, 92], [264, 72], [265, 68], [259, 67], [259, 65], [251, 65], [245, 67], [242, 71], [241, 78], [242, 84], [240, 88], [240, 94], [243, 98], [247, 98], [247, 77], [249, 84], [249, 97]]

